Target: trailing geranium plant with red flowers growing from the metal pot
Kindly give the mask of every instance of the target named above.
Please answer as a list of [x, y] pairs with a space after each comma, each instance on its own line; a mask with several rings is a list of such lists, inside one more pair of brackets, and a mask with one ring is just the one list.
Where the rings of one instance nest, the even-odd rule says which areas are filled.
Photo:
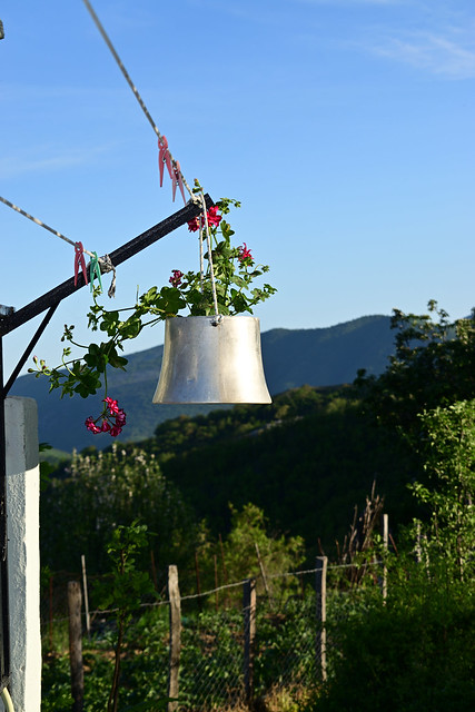
[[[253, 285], [269, 268], [267, 265], [256, 265], [246, 243], [232, 246], [235, 233], [224, 218], [231, 206], [238, 208], [240, 204], [222, 198], [207, 210], [206, 216], [188, 222], [191, 233], [199, 231], [200, 245], [211, 247], [210, 254], [208, 249], [202, 255], [207, 260], [206, 269], [187, 273], [174, 269], [167, 285], [151, 287], [137, 298], [132, 307], [125, 309], [106, 309], [99, 301], [101, 290], [95, 288], [88, 326], [92, 332], [102, 332], [107, 339], [87, 346], [78, 344], [73, 337], [75, 327], [65, 325], [61, 340], [68, 342], [68, 345], [63, 348], [61, 365], [49, 368], [44, 360], [34, 357], [36, 367], [30, 368], [30, 373], [36, 373], [37, 377], [48, 376], [50, 390], [60, 388], [61, 397], [78, 393], [86, 398], [95, 395], [103, 385], [106, 394], [102, 411], [96, 418], [89, 416], [86, 421], [86, 427], [91, 433], [109, 433], [115, 437], [126, 424], [125, 412], [107, 393], [107, 367], [125, 370], [127, 366], [127, 358], [120, 355], [123, 342], [136, 338], [146, 326], [170, 317], [210, 316], [215, 313], [225, 316], [253, 314], [255, 305], [276, 291], [268, 284], [263, 287]], [[83, 356], [70, 358], [71, 346], [82, 348]]]

